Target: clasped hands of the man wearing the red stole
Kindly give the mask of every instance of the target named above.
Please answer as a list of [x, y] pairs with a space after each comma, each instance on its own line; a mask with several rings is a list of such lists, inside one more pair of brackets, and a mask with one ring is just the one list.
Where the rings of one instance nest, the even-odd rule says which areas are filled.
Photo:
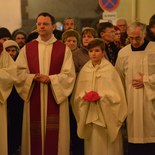
[[39, 83], [49, 84], [50, 83], [50, 78], [47, 75], [37, 73], [34, 76], [34, 81], [37, 81]]

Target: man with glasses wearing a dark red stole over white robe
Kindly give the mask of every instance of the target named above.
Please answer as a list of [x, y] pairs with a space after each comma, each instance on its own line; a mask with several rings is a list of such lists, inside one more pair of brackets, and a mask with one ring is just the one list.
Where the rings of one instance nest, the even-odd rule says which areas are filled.
[[69, 106], [75, 70], [69, 47], [53, 31], [55, 18], [37, 17], [38, 38], [22, 48], [17, 59], [16, 85], [25, 100], [22, 155], [68, 155]]

